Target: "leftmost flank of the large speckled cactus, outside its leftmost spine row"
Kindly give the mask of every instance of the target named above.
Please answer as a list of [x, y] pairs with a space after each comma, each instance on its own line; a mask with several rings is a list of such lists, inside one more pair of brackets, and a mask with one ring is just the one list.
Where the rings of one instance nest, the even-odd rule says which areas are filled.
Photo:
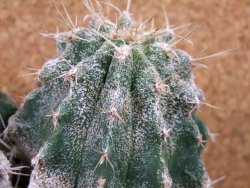
[[[70, 90], [70, 84], [61, 78], [62, 75], [65, 75], [70, 66], [76, 65], [82, 58], [93, 55], [101, 45], [100, 38], [94, 37], [95, 35], [89, 31], [82, 30], [77, 35], [82, 40], [71, 41], [67, 44], [67, 51], [62, 57], [59, 51], [56, 59], [44, 64], [39, 77], [42, 87], [26, 97], [18, 114], [10, 120], [11, 126], [6, 137], [15, 139], [17, 148], [20, 152], [24, 152], [26, 158], [34, 157], [55, 129], [51, 126], [51, 119], [53, 119], [51, 117], [56, 116], [53, 112], [67, 97]], [[85, 38], [93, 38], [93, 40], [84, 42]], [[60, 39], [58, 41], [60, 42]], [[58, 46], [62, 50], [61, 43], [58, 43]]]

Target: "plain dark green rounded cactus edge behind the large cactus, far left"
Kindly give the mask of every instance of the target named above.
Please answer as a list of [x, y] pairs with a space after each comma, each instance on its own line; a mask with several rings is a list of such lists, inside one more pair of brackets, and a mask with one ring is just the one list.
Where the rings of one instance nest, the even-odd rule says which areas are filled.
[[0, 132], [8, 124], [9, 117], [17, 111], [15, 102], [5, 93], [0, 92]]

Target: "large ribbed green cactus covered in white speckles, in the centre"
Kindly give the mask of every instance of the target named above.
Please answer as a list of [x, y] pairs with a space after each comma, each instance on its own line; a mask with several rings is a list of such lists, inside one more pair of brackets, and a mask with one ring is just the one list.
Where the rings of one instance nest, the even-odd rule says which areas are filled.
[[93, 13], [53, 37], [41, 87], [5, 132], [33, 158], [30, 187], [209, 187], [203, 94], [171, 29]]

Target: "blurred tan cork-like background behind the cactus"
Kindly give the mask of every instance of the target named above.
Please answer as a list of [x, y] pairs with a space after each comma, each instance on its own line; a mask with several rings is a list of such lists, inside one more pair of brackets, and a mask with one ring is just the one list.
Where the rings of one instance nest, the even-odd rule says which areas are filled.
[[[61, 0], [54, 0], [63, 12]], [[81, 25], [87, 9], [81, 0], [64, 0], [72, 18]], [[119, 8], [126, 1], [112, 0]], [[226, 56], [210, 58], [209, 69], [195, 69], [196, 83], [206, 102], [224, 110], [203, 106], [199, 112], [211, 132], [219, 133], [203, 154], [212, 179], [226, 176], [218, 188], [250, 187], [250, 1], [249, 0], [133, 0], [137, 19], [155, 18], [165, 27], [163, 6], [172, 27], [205, 23], [179, 47], [194, 58], [238, 48]], [[111, 9], [111, 16], [115, 11]], [[0, 90], [21, 104], [23, 96], [37, 87], [33, 73], [55, 54], [55, 43], [41, 32], [66, 31], [49, 0], [0, 0]]]

